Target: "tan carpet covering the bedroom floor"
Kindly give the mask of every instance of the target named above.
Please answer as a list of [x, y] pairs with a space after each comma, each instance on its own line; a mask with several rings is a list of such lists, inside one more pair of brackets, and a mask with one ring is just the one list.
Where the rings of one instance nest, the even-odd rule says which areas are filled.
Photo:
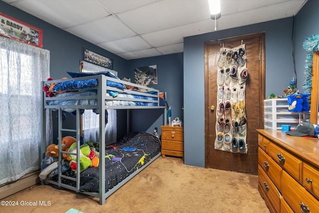
[[[269, 213], [258, 192], [258, 176], [185, 166], [179, 158], [158, 158], [98, 204], [98, 198], [36, 185], [1, 201], [0, 212], [65, 213]], [[22, 206], [30, 202], [36, 205]], [[41, 204], [50, 204], [40, 206]]]

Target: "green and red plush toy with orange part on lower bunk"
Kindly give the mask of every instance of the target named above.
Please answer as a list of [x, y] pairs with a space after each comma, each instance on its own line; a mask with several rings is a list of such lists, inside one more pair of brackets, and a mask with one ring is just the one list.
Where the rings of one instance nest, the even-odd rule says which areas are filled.
[[[77, 143], [74, 143], [68, 149], [69, 153], [77, 152]], [[71, 169], [76, 172], [77, 164], [76, 164], [76, 155], [67, 155], [70, 161], [69, 166]], [[87, 144], [83, 144], [80, 146], [80, 172], [86, 170], [89, 167], [97, 167], [99, 165], [99, 158], [95, 156], [94, 151], [91, 151], [90, 147]]]

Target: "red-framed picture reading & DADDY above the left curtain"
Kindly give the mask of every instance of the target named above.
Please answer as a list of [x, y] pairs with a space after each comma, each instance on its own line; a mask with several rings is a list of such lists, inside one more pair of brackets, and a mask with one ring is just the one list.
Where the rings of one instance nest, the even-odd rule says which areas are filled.
[[43, 31], [0, 12], [0, 35], [42, 48]]

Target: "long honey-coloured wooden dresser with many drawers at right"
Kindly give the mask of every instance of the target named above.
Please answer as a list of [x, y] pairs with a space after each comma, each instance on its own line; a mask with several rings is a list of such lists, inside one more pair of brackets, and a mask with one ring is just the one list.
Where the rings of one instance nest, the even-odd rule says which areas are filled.
[[319, 213], [319, 139], [257, 130], [258, 190], [272, 213]]

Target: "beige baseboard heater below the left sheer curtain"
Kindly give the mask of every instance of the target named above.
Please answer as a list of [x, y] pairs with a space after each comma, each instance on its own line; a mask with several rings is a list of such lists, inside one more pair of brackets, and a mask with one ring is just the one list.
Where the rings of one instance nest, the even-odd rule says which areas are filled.
[[10, 182], [0, 186], [0, 199], [6, 198], [14, 193], [20, 192], [33, 185], [40, 183], [40, 171], [30, 172], [17, 181]]

